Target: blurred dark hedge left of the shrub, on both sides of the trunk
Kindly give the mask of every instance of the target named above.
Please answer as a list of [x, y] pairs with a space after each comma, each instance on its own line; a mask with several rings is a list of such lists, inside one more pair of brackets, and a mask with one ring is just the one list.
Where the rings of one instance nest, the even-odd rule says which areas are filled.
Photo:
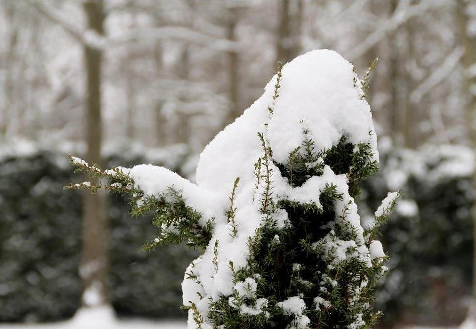
[[[67, 159], [52, 153], [0, 160], [0, 322], [57, 321], [79, 307], [81, 193], [63, 190], [76, 180], [81, 178]], [[180, 283], [196, 254], [184, 246], [144, 252], [144, 241], [157, 234], [150, 214], [132, 219], [125, 196], [111, 194], [108, 203], [111, 298], [118, 315], [184, 317]]]

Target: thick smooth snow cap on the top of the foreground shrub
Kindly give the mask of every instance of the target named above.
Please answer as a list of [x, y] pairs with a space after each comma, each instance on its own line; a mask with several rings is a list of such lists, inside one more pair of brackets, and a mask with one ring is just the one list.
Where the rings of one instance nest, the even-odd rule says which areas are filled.
[[[363, 92], [351, 63], [333, 50], [319, 49], [296, 57], [282, 73], [274, 105], [276, 75], [264, 94], [205, 147], [196, 172], [198, 185], [228, 193], [235, 178], [252, 181], [253, 163], [263, 154], [256, 133], [263, 132], [265, 124], [273, 160], [280, 163], [302, 144], [304, 128], [316, 151], [331, 148], [343, 135], [352, 143], [370, 142], [378, 161], [370, 106], [360, 99]], [[268, 106], [273, 108], [272, 116]]]

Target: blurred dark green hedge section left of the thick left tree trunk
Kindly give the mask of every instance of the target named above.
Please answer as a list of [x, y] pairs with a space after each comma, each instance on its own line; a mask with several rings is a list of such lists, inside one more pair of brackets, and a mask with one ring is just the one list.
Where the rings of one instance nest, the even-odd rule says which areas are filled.
[[79, 304], [81, 202], [62, 191], [70, 179], [51, 154], [0, 162], [0, 321], [70, 317]]

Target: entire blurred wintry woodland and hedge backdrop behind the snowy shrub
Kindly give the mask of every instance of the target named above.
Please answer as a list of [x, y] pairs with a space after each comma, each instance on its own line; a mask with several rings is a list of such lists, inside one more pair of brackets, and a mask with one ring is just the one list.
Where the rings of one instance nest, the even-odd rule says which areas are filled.
[[63, 191], [78, 181], [67, 154], [193, 179], [203, 146], [261, 95], [277, 61], [315, 48], [360, 76], [380, 59], [367, 99], [381, 171], [358, 200], [362, 221], [387, 191], [404, 193], [382, 231], [381, 328], [465, 318], [476, 1], [0, 0], [0, 40], [0, 322], [98, 304], [184, 318], [194, 252], [147, 254], [154, 228], [131, 219], [126, 199]]

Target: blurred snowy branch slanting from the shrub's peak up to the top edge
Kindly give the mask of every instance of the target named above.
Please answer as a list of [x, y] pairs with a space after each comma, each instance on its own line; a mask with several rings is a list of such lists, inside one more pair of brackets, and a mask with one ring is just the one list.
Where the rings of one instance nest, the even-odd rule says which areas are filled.
[[359, 58], [379, 43], [385, 36], [395, 31], [399, 26], [407, 22], [410, 18], [424, 14], [430, 9], [445, 6], [447, 1], [422, 1], [419, 4], [408, 6], [408, 1], [401, 1], [395, 12], [389, 19], [385, 19], [373, 33], [371, 33], [362, 42], [359, 42], [353, 49], [346, 52], [351, 60]]

